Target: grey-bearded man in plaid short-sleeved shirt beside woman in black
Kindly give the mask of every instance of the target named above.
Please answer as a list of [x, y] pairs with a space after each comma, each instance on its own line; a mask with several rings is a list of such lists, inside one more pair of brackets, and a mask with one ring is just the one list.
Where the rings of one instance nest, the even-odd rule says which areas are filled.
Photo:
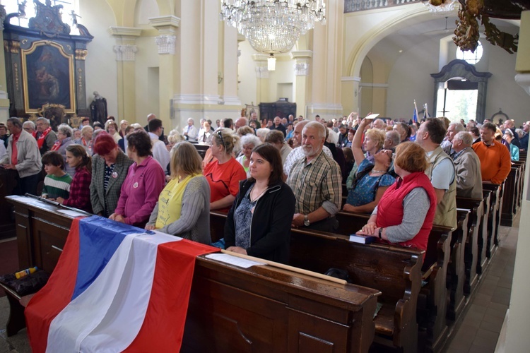
[[341, 208], [341, 169], [322, 150], [326, 128], [317, 121], [302, 129], [304, 157], [293, 164], [287, 184], [296, 197], [293, 227], [334, 232], [335, 215]]

